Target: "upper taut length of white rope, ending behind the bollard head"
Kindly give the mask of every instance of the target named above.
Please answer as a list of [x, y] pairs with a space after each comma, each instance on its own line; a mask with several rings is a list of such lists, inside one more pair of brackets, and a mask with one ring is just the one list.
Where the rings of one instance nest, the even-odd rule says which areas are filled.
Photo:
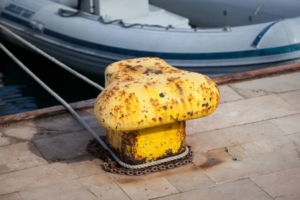
[[21, 38], [20, 36], [18, 36], [17, 34], [13, 33], [12, 31], [10, 31], [8, 28], [6, 28], [5, 26], [3, 26], [2, 24], [0, 24], [0, 29], [5, 30], [7, 33], [9, 33], [10, 35], [12, 35], [14, 38], [16, 38], [17, 40], [19, 40], [21, 43], [25, 44], [26, 46], [32, 48], [33, 50], [35, 50], [36, 52], [38, 52], [39, 54], [43, 55], [44, 57], [48, 58], [49, 60], [51, 60], [52, 62], [54, 62], [55, 64], [57, 64], [58, 66], [64, 68], [65, 70], [67, 70], [68, 72], [74, 74], [75, 76], [81, 78], [82, 80], [84, 80], [85, 82], [91, 84], [92, 86], [100, 89], [100, 90], [104, 90], [104, 87], [98, 85], [97, 83], [93, 82], [92, 80], [88, 79], [87, 77], [85, 77], [84, 75], [78, 73], [77, 71], [71, 69], [70, 67], [68, 67], [67, 65], [63, 64], [62, 62], [58, 61], [57, 59], [55, 59], [54, 57], [51, 57], [50, 55], [48, 55], [47, 53], [45, 53], [44, 51], [40, 50], [39, 48], [37, 48], [36, 46], [32, 45], [31, 43], [29, 43], [28, 41], [24, 40], [23, 38]]

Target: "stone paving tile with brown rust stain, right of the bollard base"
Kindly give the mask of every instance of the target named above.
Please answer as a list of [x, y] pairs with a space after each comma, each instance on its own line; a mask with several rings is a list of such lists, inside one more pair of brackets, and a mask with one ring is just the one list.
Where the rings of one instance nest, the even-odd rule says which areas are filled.
[[300, 147], [286, 136], [196, 152], [193, 163], [214, 182], [228, 182], [300, 166]]

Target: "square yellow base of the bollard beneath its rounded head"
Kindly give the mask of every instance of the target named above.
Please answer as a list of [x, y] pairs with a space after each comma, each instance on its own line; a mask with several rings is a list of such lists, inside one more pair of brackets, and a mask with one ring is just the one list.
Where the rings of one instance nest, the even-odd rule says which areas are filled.
[[185, 150], [185, 121], [128, 132], [106, 129], [106, 142], [123, 162], [131, 165], [171, 157]]

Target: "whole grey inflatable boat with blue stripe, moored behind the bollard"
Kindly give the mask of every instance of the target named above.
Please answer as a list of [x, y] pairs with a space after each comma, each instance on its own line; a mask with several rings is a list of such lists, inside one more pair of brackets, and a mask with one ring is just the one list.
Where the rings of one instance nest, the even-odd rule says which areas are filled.
[[155, 56], [214, 77], [298, 62], [300, 2], [289, 1], [0, 0], [0, 23], [81, 71]]

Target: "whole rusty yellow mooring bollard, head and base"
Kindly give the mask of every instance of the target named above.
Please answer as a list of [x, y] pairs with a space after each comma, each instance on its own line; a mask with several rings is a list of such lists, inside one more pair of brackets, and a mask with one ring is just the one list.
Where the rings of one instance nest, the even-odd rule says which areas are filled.
[[94, 114], [112, 151], [127, 164], [142, 164], [182, 153], [185, 120], [209, 115], [218, 102], [207, 76], [142, 57], [107, 66]]

